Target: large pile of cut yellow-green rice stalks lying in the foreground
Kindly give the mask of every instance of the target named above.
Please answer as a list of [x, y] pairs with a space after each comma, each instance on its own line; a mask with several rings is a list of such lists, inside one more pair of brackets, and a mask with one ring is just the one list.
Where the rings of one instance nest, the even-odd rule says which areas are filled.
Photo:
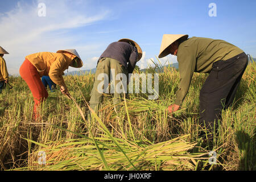
[[[138, 145], [109, 137], [82, 138], [64, 143], [51, 143], [40, 151], [46, 153], [46, 165], [38, 164], [38, 151], [31, 154], [33, 161], [24, 170], [193, 170], [205, 152], [189, 153], [196, 143], [184, 141], [184, 137], [151, 145]], [[94, 144], [93, 141], [94, 140]]]

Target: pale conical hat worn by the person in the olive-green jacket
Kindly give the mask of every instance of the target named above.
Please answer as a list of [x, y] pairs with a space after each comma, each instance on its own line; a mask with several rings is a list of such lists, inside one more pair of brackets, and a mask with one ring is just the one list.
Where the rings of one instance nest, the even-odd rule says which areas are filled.
[[158, 57], [162, 58], [170, 54], [170, 51], [167, 48], [171, 46], [171, 44], [174, 43], [176, 40], [187, 39], [187, 38], [188, 38], [188, 35], [184, 35], [184, 34], [164, 34]]

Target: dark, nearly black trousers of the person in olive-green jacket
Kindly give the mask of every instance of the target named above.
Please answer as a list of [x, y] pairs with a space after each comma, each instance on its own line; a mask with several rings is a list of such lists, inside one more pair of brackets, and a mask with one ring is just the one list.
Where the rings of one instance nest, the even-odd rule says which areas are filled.
[[218, 119], [221, 119], [221, 110], [232, 105], [247, 64], [245, 53], [213, 63], [199, 97], [199, 122], [205, 123], [208, 129], [213, 129], [214, 121], [217, 124]]

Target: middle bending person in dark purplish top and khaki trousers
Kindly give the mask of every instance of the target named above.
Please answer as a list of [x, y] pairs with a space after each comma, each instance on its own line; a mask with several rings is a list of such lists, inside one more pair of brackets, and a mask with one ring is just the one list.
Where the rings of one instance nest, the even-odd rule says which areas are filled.
[[[141, 60], [142, 49], [139, 45], [130, 39], [121, 39], [118, 42], [109, 44], [106, 50], [102, 53], [98, 59], [97, 69], [94, 78], [94, 84], [92, 92], [90, 93], [90, 107], [93, 110], [97, 110], [102, 101], [102, 92], [98, 91], [98, 85], [102, 80], [98, 80], [98, 76], [101, 73], [105, 73], [108, 76], [107, 82], [110, 82], [111, 70], [114, 70], [114, 75], [123, 73], [128, 80], [128, 74], [134, 71], [136, 63]], [[113, 78], [115, 79], [115, 78]], [[106, 80], [105, 80], [106, 81]], [[119, 80], [121, 81], [121, 80]], [[117, 80], [114, 81], [114, 88], [118, 84]], [[127, 83], [126, 83], [127, 84]], [[103, 88], [103, 86], [102, 86]], [[106, 89], [106, 88], [104, 88]], [[123, 93], [118, 93], [114, 90], [114, 104], [118, 104], [123, 97]]]

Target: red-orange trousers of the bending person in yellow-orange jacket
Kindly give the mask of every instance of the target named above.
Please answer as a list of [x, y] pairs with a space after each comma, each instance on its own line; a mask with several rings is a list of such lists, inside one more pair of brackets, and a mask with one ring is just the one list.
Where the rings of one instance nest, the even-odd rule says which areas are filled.
[[35, 118], [38, 118], [38, 106], [46, 100], [48, 92], [43, 85], [38, 70], [27, 59], [23, 62], [19, 68], [19, 74], [26, 81], [34, 97], [34, 114]]

